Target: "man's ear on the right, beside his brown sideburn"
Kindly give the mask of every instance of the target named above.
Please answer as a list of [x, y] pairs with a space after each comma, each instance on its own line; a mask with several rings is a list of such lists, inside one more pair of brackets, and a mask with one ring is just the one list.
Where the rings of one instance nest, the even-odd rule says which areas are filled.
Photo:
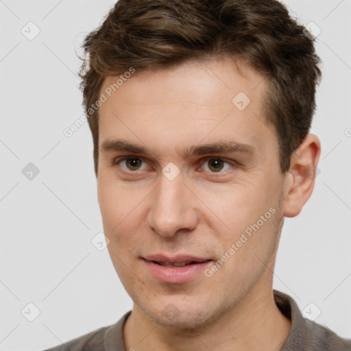
[[285, 217], [297, 216], [310, 198], [315, 186], [315, 173], [320, 153], [319, 138], [314, 134], [308, 134], [291, 156], [290, 169], [285, 177], [283, 199]]

